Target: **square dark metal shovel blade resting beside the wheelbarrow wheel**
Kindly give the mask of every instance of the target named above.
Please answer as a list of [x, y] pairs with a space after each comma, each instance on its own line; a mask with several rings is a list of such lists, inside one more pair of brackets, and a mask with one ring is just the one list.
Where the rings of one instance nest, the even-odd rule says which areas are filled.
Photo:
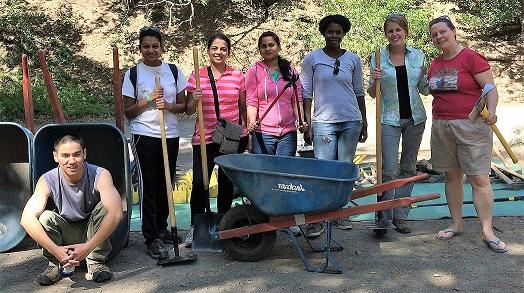
[[193, 232], [193, 251], [222, 252], [218, 238], [222, 216], [215, 213], [196, 214]]

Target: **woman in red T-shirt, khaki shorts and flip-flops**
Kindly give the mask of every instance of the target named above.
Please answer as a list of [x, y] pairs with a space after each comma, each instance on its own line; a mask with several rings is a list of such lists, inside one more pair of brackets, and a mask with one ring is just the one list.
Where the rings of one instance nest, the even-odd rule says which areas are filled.
[[439, 231], [439, 239], [460, 234], [462, 225], [463, 177], [471, 183], [473, 201], [482, 228], [482, 240], [495, 252], [506, 252], [506, 244], [492, 228], [493, 190], [489, 181], [493, 133], [497, 121], [498, 93], [486, 96], [487, 119], [476, 122], [468, 114], [485, 85], [493, 84], [493, 74], [485, 57], [457, 43], [455, 26], [447, 16], [429, 23], [431, 41], [441, 50], [429, 68], [429, 88], [433, 100], [431, 158], [433, 168], [446, 173], [446, 199], [451, 225]]

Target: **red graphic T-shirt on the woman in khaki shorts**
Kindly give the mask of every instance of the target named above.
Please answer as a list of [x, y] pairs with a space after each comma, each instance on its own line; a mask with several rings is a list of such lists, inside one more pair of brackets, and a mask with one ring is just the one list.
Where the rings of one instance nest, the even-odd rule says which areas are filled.
[[435, 58], [429, 67], [429, 90], [433, 95], [433, 118], [468, 119], [482, 87], [474, 75], [490, 69], [486, 58], [468, 48], [451, 60]]

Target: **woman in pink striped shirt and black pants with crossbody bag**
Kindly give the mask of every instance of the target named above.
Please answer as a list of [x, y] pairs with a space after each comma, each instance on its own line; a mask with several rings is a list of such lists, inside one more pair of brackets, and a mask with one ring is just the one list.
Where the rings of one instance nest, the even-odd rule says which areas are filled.
[[[188, 99], [186, 113], [191, 115], [196, 111], [198, 99], [202, 99], [202, 110], [204, 116], [204, 131], [207, 152], [207, 170], [211, 177], [211, 172], [215, 166], [214, 159], [221, 155], [219, 145], [211, 141], [213, 131], [217, 125], [217, 114], [211, 78], [214, 79], [218, 94], [218, 107], [220, 117], [233, 123], [242, 124], [242, 137], [238, 153], [246, 150], [248, 143], [248, 132], [245, 127], [246, 121], [246, 88], [244, 74], [238, 69], [234, 69], [226, 64], [226, 60], [231, 53], [231, 41], [221, 33], [212, 35], [207, 42], [207, 54], [211, 64], [200, 68], [200, 91], [196, 90], [195, 73], [189, 77], [187, 87]], [[208, 67], [211, 69], [212, 76], [208, 74]], [[209, 201], [209, 192], [204, 190], [202, 182], [202, 162], [200, 157], [200, 133], [198, 123], [195, 123], [193, 133], [193, 189], [191, 191], [191, 229], [186, 235], [186, 247], [191, 247], [193, 243], [193, 217], [195, 214], [205, 212], [206, 201]], [[233, 201], [233, 183], [226, 174], [219, 168], [218, 170], [218, 197], [217, 207], [220, 214], [224, 214], [231, 208]]]

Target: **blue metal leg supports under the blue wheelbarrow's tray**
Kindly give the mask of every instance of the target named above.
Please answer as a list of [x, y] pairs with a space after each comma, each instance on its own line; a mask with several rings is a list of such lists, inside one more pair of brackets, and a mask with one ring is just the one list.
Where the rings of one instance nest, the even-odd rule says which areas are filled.
[[[321, 267], [321, 268], [320, 267], [315, 267], [315, 266], [313, 266], [311, 264], [311, 262], [308, 260], [308, 258], [304, 254], [304, 250], [302, 249], [302, 247], [298, 243], [297, 238], [295, 237], [295, 235], [293, 234], [293, 232], [289, 228], [283, 229], [282, 231], [284, 231], [284, 232], [286, 232], [288, 234], [289, 239], [291, 240], [291, 243], [293, 244], [293, 246], [295, 247], [295, 250], [298, 253], [298, 256], [300, 257], [300, 259], [302, 260], [302, 262], [304, 263], [304, 266], [306, 266], [306, 269], [308, 271], [315, 272], [315, 273], [329, 273], [329, 274], [341, 274], [342, 273], [342, 270], [340, 269], [340, 266], [337, 264], [337, 262], [330, 255], [331, 251], [340, 251], [340, 250], [343, 249], [343, 247], [340, 246], [340, 244], [338, 242], [336, 242], [331, 237], [331, 221], [327, 221], [326, 242], [325, 242], [323, 248], [321, 248], [321, 249], [314, 249], [312, 247], [311, 243], [309, 242], [309, 240], [304, 237], [306, 239], [309, 247], [314, 252], [326, 252], [326, 261], [325, 261], [324, 266]], [[333, 240], [339, 246], [338, 247], [331, 247], [331, 240]], [[332, 265], [330, 265], [330, 263]]]

